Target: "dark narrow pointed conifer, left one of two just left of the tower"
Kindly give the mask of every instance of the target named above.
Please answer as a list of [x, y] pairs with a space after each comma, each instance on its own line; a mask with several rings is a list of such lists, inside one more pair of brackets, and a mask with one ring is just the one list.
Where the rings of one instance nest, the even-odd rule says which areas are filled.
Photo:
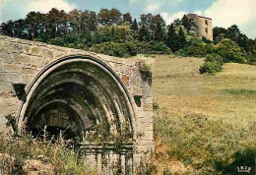
[[166, 45], [172, 50], [172, 52], [176, 52], [179, 50], [179, 37], [173, 27], [173, 24], [168, 26], [168, 32], [166, 37]]

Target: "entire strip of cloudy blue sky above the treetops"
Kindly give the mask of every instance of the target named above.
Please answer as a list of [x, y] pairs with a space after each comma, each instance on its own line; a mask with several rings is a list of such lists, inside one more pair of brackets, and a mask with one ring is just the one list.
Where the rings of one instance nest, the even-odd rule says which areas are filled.
[[48, 12], [56, 7], [93, 10], [117, 8], [139, 18], [143, 13], [160, 14], [167, 24], [187, 13], [213, 19], [216, 27], [237, 25], [251, 38], [256, 37], [256, 0], [0, 0], [0, 23], [25, 18], [31, 11]]

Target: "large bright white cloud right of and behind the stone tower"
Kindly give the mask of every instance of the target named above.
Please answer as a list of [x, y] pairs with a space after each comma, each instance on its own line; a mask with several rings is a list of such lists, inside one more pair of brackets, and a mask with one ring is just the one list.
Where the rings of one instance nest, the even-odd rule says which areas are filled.
[[256, 36], [255, 0], [218, 0], [205, 10], [204, 15], [213, 19], [214, 26], [237, 25], [249, 37]]

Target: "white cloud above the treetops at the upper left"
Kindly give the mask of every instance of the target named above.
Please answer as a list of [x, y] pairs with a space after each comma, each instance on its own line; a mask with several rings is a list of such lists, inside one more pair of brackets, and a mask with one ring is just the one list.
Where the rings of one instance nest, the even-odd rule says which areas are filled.
[[75, 5], [66, 2], [65, 0], [33, 0], [28, 5], [27, 10], [39, 11], [41, 13], [47, 13], [52, 8], [57, 8], [59, 10], [64, 10], [69, 12], [76, 8]]

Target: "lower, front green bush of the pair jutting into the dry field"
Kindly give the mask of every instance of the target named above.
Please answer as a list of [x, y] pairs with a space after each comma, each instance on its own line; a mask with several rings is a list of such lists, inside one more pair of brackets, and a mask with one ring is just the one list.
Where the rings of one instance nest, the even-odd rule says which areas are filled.
[[217, 72], [222, 71], [223, 66], [218, 62], [205, 62], [199, 69], [201, 74], [207, 73], [210, 75], [216, 75]]

